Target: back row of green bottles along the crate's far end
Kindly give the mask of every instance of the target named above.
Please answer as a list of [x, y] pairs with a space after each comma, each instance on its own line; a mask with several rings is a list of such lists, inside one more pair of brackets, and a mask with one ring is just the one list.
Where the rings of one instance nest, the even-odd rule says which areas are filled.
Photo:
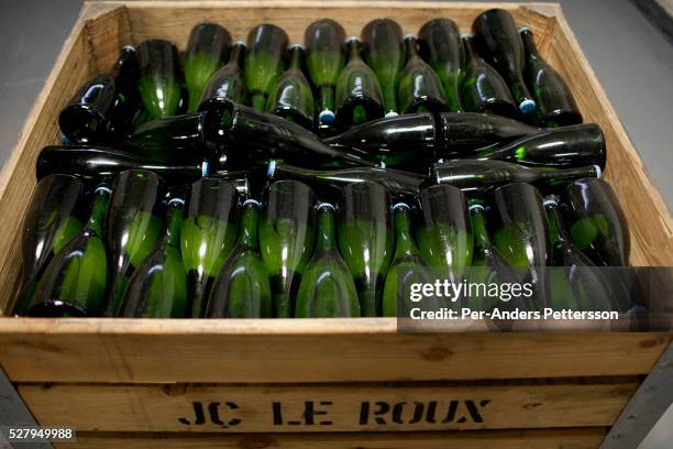
[[[530, 29], [493, 9], [463, 36], [450, 19], [402, 36], [390, 19], [367, 23], [361, 39], [323, 19], [289, 46], [273, 24], [253, 28], [232, 44], [216, 23], [190, 33], [184, 63], [165, 40], [125, 46], [111, 70], [85, 83], [59, 124], [71, 143], [103, 144], [147, 120], [207, 108], [213, 98], [249, 105], [331, 135], [397, 113], [473, 111], [544, 128], [582, 122], [563, 78], [538, 53]], [[344, 44], [345, 41], [345, 44]], [[477, 51], [478, 47], [478, 51]], [[306, 48], [306, 50], [305, 50]], [[364, 57], [362, 57], [364, 56]]]

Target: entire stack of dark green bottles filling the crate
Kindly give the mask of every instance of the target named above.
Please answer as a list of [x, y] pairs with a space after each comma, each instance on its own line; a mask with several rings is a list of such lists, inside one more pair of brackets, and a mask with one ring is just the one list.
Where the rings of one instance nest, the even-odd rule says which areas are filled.
[[400, 285], [471, 266], [533, 280], [537, 307], [567, 295], [536, 267], [626, 265], [600, 128], [507, 11], [473, 32], [125, 46], [38, 155], [15, 314], [395, 316]]

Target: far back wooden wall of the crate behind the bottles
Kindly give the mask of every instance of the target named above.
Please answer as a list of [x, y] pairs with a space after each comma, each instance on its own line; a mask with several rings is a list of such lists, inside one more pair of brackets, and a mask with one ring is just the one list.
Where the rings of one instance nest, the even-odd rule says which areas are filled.
[[[130, 2], [128, 3], [131, 30], [135, 42], [146, 39], [169, 39], [185, 48], [194, 25], [212, 21], [227, 28], [234, 40], [245, 41], [250, 29], [260, 23], [274, 23], [283, 28], [290, 43], [304, 43], [304, 32], [309, 23], [323, 18], [334, 18], [346, 35], [360, 36], [362, 28], [371, 20], [386, 17], [399, 22], [405, 33], [416, 34], [430, 19], [448, 17], [462, 32], [470, 32], [472, 21], [488, 8], [511, 11], [519, 24], [527, 24], [537, 35], [547, 35], [549, 18], [543, 12], [555, 12], [553, 4], [520, 3], [431, 3], [431, 2], [349, 2], [335, 1], [316, 6], [311, 2]], [[536, 11], [533, 11], [534, 8]]]

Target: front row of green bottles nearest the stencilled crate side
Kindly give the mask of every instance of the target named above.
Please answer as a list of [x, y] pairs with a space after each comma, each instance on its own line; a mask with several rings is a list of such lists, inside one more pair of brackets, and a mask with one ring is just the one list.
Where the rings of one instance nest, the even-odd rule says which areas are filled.
[[[412, 283], [461, 282], [471, 266], [482, 280], [532, 283], [532, 307], [598, 297], [604, 309], [625, 309], [594, 270], [629, 256], [624, 212], [598, 178], [544, 199], [527, 183], [479, 196], [440, 184], [407, 202], [364, 180], [333, 205], [291, 179], [271, 183], [263, 206], [221, 178], [164, 196], [150, 171], [120, 173], [92, 198], [86, 190], [69, 175], [38, 182], [23, 222], [16, 315], [396, 316]], [[569, 267], [570, 287], [540, 280], [543, 266]]]

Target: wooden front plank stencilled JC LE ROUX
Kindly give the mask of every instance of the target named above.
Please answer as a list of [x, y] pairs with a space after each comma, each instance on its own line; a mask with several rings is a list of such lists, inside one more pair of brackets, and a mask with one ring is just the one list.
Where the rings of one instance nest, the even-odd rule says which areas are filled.
[[638, 385], [19, 384], [19, 394], [42, 426], [82, 431], [418, 431], [610, 426]]

